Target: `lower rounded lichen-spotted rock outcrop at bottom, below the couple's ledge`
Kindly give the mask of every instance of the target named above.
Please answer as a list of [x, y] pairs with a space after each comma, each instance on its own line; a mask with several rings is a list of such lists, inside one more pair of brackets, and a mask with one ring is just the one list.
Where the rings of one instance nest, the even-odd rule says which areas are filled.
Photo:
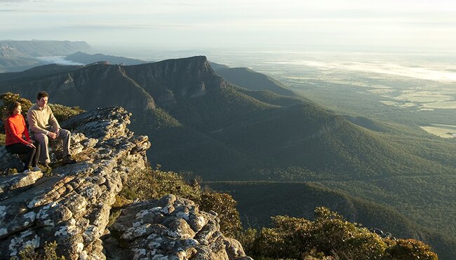
[[215, 212], [169, 194], [123, 209], [105, 241], [109, 259], [248, 260], [241, 244], [220, 232]]

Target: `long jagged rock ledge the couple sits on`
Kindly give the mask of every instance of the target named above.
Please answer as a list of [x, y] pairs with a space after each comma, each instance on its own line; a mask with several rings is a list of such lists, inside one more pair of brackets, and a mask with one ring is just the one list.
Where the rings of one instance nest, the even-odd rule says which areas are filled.
[[[53, 241], [66, 259], [105, 259], [100, 237], [109, 211], [128, 172], [145, 167], [150, 146], [147, 137], [128, 130], [129, 118], [121, 107], [74, 116], [62, 128], [72, 131], [78, 163], [55, 167], [51, 177], [41, 172], [0, 177], [1, 259]], [[1, 170], [15, 165], [2, 162]]]

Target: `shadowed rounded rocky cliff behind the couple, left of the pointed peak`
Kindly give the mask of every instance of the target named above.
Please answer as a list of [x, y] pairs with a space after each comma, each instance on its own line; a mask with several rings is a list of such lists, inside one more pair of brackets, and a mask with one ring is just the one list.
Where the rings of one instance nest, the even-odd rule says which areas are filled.
[[87, 110], [114, 105], [140, 114], [155, 107], [151, 95], [128, 78], [119, 65], [93, 64], [63, 68], [48, 65], [18, 74], [29, 77], [29, 80], [0, 78], [2, 92], [20, 93], [34, 102], [36, 93], [45, 90], [53, 103]]

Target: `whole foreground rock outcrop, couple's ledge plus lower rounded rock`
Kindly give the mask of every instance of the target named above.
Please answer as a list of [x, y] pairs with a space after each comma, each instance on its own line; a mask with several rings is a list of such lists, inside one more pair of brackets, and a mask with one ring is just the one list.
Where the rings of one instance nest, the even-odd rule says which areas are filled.
[[[109, 211], [128, 174], [145, 167], [150, 143], [127, 128], [122, 108], [97, 109], [62, 123], [72, 130], [79, 162], [41, 172], [0, 177], [0, 256], [27, 245], [58, 243], [67, 259], [243, 259], [239, 242], [225, 238], [215, 212], [168, 195], [134, 203], [107, 228]], [[58, 152], [59, 147], [53, 146]], [[0, 149], [1, 170], [18, 158]], [[105, 242], [103, 242], [105, 241]]]

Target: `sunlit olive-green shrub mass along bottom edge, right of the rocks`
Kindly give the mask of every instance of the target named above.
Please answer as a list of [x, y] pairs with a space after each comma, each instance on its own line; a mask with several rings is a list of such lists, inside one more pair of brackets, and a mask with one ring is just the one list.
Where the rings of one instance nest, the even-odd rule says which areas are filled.
[[437, 259], [423, 242], [381, 238], [326, 207], [315, 213], [314, 221], [276, 216], [272, 228], [244, 232], [247, 254], [258, 259]]

